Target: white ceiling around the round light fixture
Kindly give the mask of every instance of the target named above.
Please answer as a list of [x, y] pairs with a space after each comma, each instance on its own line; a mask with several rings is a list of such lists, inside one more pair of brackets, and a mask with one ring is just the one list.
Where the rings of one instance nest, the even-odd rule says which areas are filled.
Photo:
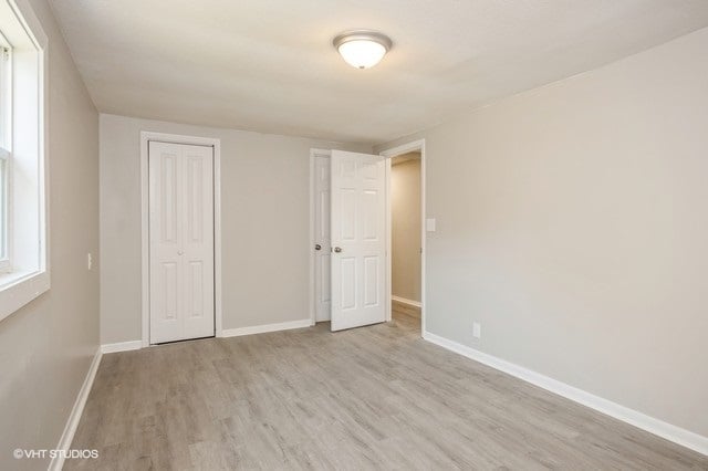
[[[708, 25], [708, 0], [50, 0], [103, 113], [381, 143]], [[393, 50], [345, 64], [339, 32]]]

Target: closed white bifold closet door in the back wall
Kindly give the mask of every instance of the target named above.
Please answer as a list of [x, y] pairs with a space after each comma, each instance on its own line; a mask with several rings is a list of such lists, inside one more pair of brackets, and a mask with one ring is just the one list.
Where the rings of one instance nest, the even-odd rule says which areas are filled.
[[215, 335], [214, 148], [150, 142], [150, 344]]

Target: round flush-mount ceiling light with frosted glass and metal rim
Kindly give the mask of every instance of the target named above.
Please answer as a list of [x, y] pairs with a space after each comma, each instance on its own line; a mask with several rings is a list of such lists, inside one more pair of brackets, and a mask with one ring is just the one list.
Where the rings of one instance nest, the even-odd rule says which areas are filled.
[[346, 31], [334, 38], [332, 44], [344, 61], [356, 69], [369, 69], [378, 64], [393, 45], [387, 35], [371, 30]]

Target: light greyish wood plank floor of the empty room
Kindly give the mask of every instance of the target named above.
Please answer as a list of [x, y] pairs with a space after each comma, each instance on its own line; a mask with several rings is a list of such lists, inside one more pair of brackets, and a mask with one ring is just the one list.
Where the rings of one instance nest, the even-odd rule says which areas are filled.
[[708, 469], [419, 338], [329, 324], [105, 355], [64, 469]]

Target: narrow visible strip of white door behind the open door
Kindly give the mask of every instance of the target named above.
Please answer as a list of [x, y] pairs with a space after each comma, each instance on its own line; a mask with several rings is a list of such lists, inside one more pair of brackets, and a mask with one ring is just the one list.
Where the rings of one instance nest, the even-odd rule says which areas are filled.
[[314, 285], [315, 321], [330, 321], [332, 301], [330, 290], [330, 158], [314, 157]]

